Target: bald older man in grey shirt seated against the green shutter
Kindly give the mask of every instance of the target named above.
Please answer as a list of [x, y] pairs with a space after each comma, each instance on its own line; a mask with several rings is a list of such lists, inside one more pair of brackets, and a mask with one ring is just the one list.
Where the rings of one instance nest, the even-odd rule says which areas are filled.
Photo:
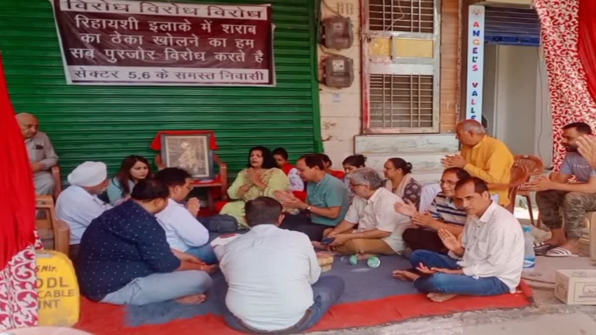
[[39, 131], [39, 120], [35, 115], [19, 113], [17, 122], [29, 153], [31, 169], [35, 176], [35, 191], [37, 194], [51, 196], [54, 194], [55, 181], [48, 170], [58, 163], [58, 155], [48, 135]]

